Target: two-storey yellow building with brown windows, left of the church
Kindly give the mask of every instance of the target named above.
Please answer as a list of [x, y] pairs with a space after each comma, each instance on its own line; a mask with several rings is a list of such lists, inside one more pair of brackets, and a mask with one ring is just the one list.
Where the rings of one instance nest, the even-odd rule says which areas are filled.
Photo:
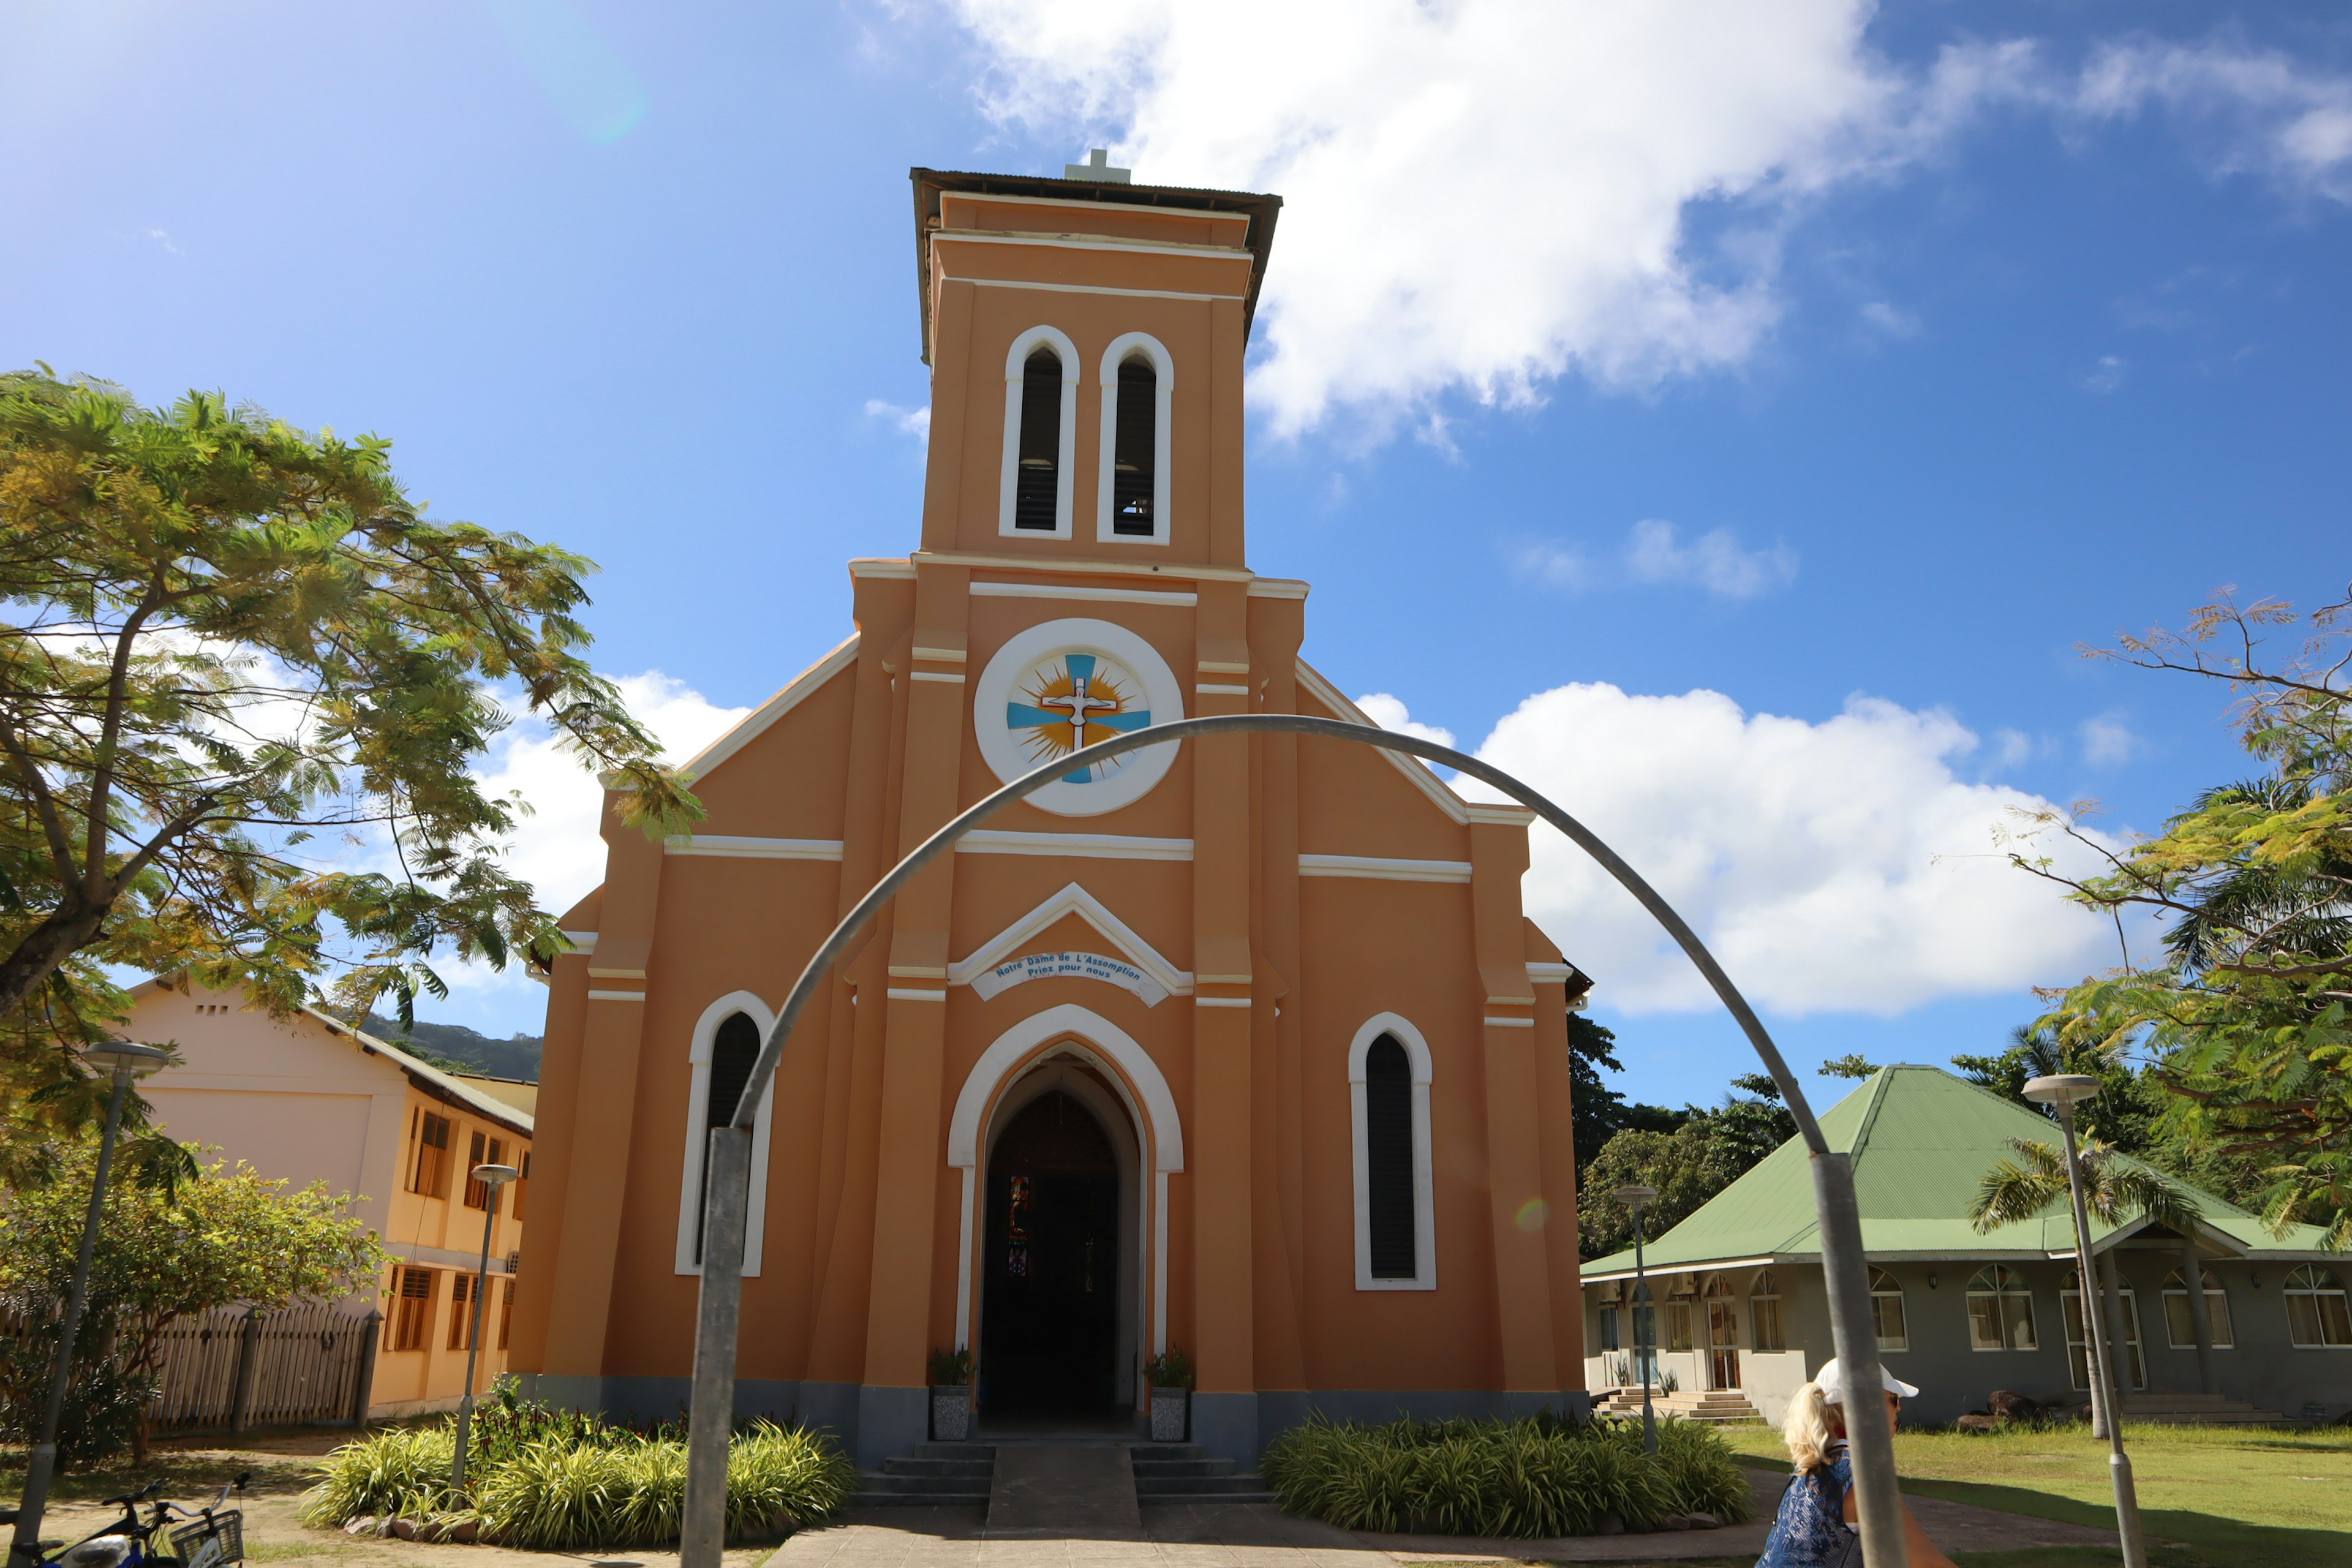
[[129, 1034], [179, 1048], [176, 1067], [141, 1084], [172, 1138], [296, 1187], [325, 1180], [383, 1239], [393, 1262], [369, 1300], [383, 1312], [372, 1418], [454, 1408], [466, 1392], [485, 1218], [492, 1279], [475, 1392], [506, 1371], [532, 1182], [510, 1185], [489, 1215], [487, 1190], [466, 1173], [529, 1171], [534, 1084], [442, 1072], [325, 1013], [270, 1018], [235, 992], [172, 978], [132, 990]]

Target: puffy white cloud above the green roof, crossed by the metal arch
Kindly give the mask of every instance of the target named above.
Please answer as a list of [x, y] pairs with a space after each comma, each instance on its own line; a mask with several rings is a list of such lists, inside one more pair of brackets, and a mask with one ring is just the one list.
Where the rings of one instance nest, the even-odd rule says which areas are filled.
[[[1976, 736], [1945, 712], [1853, 698], [1820, 724], [1717, 691], [1541, 691], [1479, 757], [1588, 823], [1700, 933], [1750, 999], [1783, 1013], [1900, 1013], [1940, 997], [2072, 980], [2114, 929], [2013, 870], [2004, 835], [2051, 804], [1966, 783]], [[2058, 853], [2042, 846], [2034, 853]], [[1555, 832], [1526, 907], [1611, 1006], [1710, 1006], [1689, 959]]]

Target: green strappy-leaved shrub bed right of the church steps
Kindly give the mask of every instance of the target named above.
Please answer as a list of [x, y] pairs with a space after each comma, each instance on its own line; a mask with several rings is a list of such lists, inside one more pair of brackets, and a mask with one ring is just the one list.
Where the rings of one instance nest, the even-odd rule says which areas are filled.
[[1345, 1530], [1435, 1535], [1595, 1535], [1675, 1514], [1748, 1519], [1748, 1481], [1724, 1439], [1684, 1420], [1658, 1422], [1658, 1458], [1639, 1422], [1395, 1420], [1378, 1427], [1322, 1418], [1294, 1427], [1258, 1465], [1284, 1512]]

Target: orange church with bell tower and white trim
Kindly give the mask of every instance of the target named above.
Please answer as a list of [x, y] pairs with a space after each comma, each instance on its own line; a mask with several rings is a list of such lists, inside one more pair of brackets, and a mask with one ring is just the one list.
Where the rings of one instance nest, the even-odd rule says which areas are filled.
[[[1279, 197], [915, 169], [920, 548], [849, 562], [856, 632], [687, 764], [708, 820], [607, 813], [564, 919], [513, 1363], [684, 1401], [701, 1157], [842, 912], [953, 813], [1188, 715], [1367, 722], [1249, 569], [1242, 357]], [[760, 1105], [739, 1410], [927, 1436], [1117, 1429], [1164, 1349], [1192, 1439], [1312, 1408], [1583, 1403], [1566, 1009], [1519, 806], [1322, 738], [1073, 773], [924, 872]]]

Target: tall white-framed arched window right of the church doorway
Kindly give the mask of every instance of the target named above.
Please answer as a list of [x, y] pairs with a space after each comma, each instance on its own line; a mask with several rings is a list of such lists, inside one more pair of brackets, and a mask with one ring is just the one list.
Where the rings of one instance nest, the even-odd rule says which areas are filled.
[[1355, 1112], [1355, 1288], [1437, 1288], [1430, 1185], [1430, 1048], [1381, 1013], [1348, 1048]]

